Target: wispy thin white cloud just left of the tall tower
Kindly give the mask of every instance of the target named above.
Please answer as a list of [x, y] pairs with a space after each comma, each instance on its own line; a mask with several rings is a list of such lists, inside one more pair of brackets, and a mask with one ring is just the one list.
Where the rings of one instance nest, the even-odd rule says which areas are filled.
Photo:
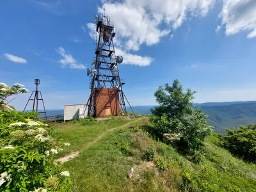
[[58, 61], [63, 66], [68, 65], [70, 68], [78, 69], [86, 68], [83, 64], [77, 63], [76, 59], [73, 58], [71, 54], [66, 54], [65, 49], [63, 47], [59, 47], [56, 51], [63, 57], [63, 59], [60, 59]]

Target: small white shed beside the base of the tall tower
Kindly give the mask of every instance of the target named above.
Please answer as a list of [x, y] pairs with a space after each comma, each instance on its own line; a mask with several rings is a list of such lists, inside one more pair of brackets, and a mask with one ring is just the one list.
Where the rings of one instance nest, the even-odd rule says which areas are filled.
[[78, 118], [87, 118], [87, 115], [88, 108], [86, 108], [86, 104], [74, 104], [64, 106], [64, 121]]

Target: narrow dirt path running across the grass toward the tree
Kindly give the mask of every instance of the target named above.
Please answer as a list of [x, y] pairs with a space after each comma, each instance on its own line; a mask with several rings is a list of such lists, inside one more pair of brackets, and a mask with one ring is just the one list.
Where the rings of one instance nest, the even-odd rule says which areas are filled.
[[[103, 134], [100, 134], [99, 136], [97, 136], [97, 138], [95, 140], [90, 141], [89, 143], [86, 143], [86, 145], [84, 145], [84, 147], [81, 148], [81, 150], [86, 150], [87, 148], [91, 147], [94, 143], [97, 143], [102, 137], [107, 136], [108, 134], [110, 134], [113, 131], [116, 131], [118, 129], [124, 129], [125, 127], [128, 127], [129, 125], [132, 125], [134, 123], [140, 122], [140, 121], [145, 120], [145, 119], [146, 118], [139, 118], [137, 120], [134, 120], [134, 121], [129, 122], [127, 124], [121, 125], [119, 127], [109, 129], [108, 131], [104, 132]], [[72, 154], [68, 154], [67, 156], [60, 157], [59, 159], [56, 159], [55, 161], [62, 162], [62, 163], [70, 161], [71, 159], [74, 159], [75, 157], [79, 156], [79, 152], [81, 150], [77, 150], [76, 152], [72, 152]]]

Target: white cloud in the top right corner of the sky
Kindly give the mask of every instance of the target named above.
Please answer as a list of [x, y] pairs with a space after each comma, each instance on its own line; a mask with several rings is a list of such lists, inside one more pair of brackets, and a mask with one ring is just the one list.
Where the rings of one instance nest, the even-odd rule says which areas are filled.
[[226, 35], [249, 31], [248, 38], [256, 37], [255, 0], [223, 0], [220, 17], [225, 25]]

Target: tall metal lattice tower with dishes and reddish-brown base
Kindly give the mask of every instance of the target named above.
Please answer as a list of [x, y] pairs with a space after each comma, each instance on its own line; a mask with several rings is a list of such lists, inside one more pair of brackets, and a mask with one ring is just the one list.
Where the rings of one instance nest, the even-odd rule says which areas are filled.
[[[92, 61], [93, 68], [87, 69], [91, 89], [87, 102], [88, 114], [95, 117], [102, 116], [101, 113], [109, 106], [111, 110], [109, 115], [118, 115], [120, 109], [127, 115], [125, 106], [127, 98], [122, 91], [125, 83], [121, 82], [118, 69], [118, 64], [122, 63], [123, 58], [116, 56], [115, 53], [114, 24], [106, 15], [101, 17], [95, 15], [95, 22], [97, 38], [95, 60]], [[130, 104], [129, 106], [131, 107]]]

